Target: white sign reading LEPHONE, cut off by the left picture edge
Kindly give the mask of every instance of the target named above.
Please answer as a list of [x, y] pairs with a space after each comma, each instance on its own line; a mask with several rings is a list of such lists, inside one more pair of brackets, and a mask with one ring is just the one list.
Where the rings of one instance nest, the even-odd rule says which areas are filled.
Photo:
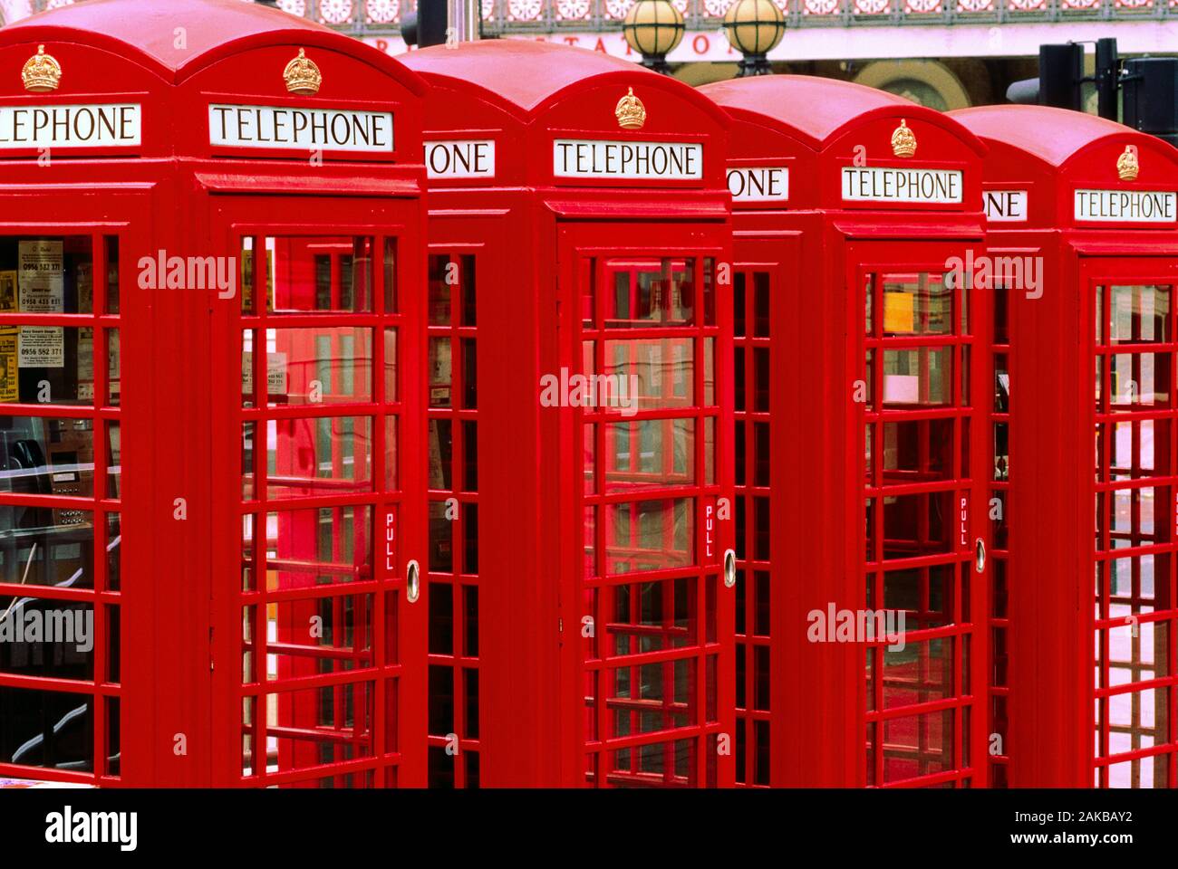
[[133, 147], [143, 141], [143, 106], [0, 106], [0, 150]]

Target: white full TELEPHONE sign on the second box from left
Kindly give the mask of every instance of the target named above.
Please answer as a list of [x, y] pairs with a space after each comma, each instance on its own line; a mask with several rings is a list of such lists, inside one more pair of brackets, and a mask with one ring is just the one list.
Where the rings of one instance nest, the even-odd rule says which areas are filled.
[[628, 178], [696, 180], [703, 178], [703, 146], [677, 141], [552, 142], [552, 174], [557, 178]]

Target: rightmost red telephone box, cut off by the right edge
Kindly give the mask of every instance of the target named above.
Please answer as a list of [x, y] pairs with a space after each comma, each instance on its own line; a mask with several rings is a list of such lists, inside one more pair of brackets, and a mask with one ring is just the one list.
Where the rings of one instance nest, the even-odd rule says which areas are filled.
[[1173, 788], [1178, 152], [1064, 110], [952, 114], [990, 146], [1001, 264], [1010, 782]]

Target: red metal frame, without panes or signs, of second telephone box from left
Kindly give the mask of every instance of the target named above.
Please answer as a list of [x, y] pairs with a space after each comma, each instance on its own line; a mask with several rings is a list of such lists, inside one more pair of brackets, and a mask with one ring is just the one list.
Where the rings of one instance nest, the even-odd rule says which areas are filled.
[[[604, 609], [587, 608], [587, 596], [598, 595], [604, 606], [613, 589], [622, 586], [620, 577], [583, 576], [587, 539], [601, 551], [607, 537], [598, 522], [594, 537], [588, 538], [582, 517], [587, 504], [604, 513], [604, 505], [628, 498], [607, 496], [601, 489], [584, 493], [585, 463], [591, 456], [587, 456], [583, 427], [587, 422], [596, 425], [591, 455], [601, 462], [607, 443], [615, 443], [607, 438], [605, 420], [627, 418], [616, 411], [548, 409], [538, 400], [542, 376], [558, 376], [562, 367], [582, 371], [582, 336], [596, 341], [595, 361], [604, 361], [604, 332], [584, 331], [582, 319], [588, 317], [590, 326], [600, 326], [594, 318], [603, 316], [605, 294], [590, 296], [587, 290], [607, 278], [607, 260], [695, 258], [693, 292], [702, 292], [704, 258], [728, 261], [730, 226], [722, 186], [726, 119], [680, 82], [591, 52], [489, 41], [412, 52], [405, 62], [434, 88], [426, 104], [426, 141], [491, 140], [496, 148], [494, 177], [430, 180], [431, 252], [474, 253], [478, 274], [477, 377], [483, 384], [478, 396], [479, 736], [461, 750], [478, 751], [481, 783], [492, 787], [730, 784], [733, 592], [720, 585], [712, 598], [708, 583], [719, 576], [719, 553], [730, 545], [732, 523], [719, 522], [714, 548], [702, 556], [706, 529], [701, 519], [695, 530], [697, 552], [683, 569], [626, 576], [631, 583], [663, 577], [694, 582], [689, 596], [694, 624], [709, 624], [700, 613], [714, 617], [714, 635], [687, 639], [674, 625], [660, 623], [631, 629], [627, 636], [649, 630], [650, 642], [671, 638], [688, 645], [613, 661], [593, 652], [587, 657], [585, 619], [591, 619], [602, 643], [607, 637], [622, 637], [624, 625], [611, 624], [615, 615]], [[620, 130], [615, 119], [618, 99], [629, 87], [647, 111], [640, 132]], [[565, 137], [697, 141], [703, 146], [702, 179], [554, 178], [552, 142]], [[618, 263], [621, 271], [627, 267]], [[695, 346], [715, 341], [716, 392], [706, 410], [693, 404], [682, 412], [642, 411], [634, 419], [713, 418], [723, 445], [732, 436], [732, 397], [724, 376], [732, 352], [726, 329], [730, 287], [717, 281], [715, 290], [715, 323], [688, 329], [653, 324], [618, 330], [616, 337], [661, 339], [675, 333], [690, 338]], [[591, 299], [597, 307], [589, 304]], [[702, 296], [696, 299], [701, 300]], [[696, 305], [695, 311], [701, 307]], [[696, 390], [702, 390], [697, 364], [693, 373]], [[695, 449], [696, 460], [702, 462], [702, 438], [696, 438]], [[694, 486], [650, 491], [664, 498], [684, 493], [701, 508], [707, 499], [730, 499], [729, 455], [717, 451], [715, 484], [701, 485], [703, 469], [697, 466]], [[714, 677], [707, 675], [709, 658], [716, 661]], [[687, 709], [671, 698], [657, 704], [657, 715], [686, 712], [688, 722], [646, 735], [615, 734], [610, 709], [617, 716], [637, 712], [622, 698], [593, 705], [624, 678], [616, 676], [607, 689], [611, 682], [605, 678], [607, 663], [623, 664], [622, 669], [647, 665], [662, 678], [674, 671], [675, 661], [689, 662], [679, 666], [695, 665], [703, 675], [697, 671], [690, 683], [696, 694]], [[596, 685], [590, 689], [595, 691], [591, 698], [585, 696], [587, 685]], [[714, 698], [709, 691], [715, 691]], [[431, 697], [434, 703], [464, 709], [468, 699]], [[712, 709], [714, 715], [708, 715]], [[466, 745], [469, 734], [457, 736], [459, 747]], [[668, 761], [669, 747], [677, 739], [691, 741], [695, 761], [682, 776]], [[668, 750], [649, 748], [656, 743]], [[650, 752], [661, 759], [647, 772], [633, 767], [633, 758]], [[587, 775], [587, 762], [597, 764], [600, 757], [630, 759], [613, 769], [596, 765], [594, 771], [604, 775]], [[437, 759], [439, 764], [454, 762]], [[649, 770], [660, 763], [663, 775], [651, 775]], [[461, 767], [452, 776], [456, 784], [463, 781]], [[439, 772], [435, 781], [450, 780], [448, 772]]]

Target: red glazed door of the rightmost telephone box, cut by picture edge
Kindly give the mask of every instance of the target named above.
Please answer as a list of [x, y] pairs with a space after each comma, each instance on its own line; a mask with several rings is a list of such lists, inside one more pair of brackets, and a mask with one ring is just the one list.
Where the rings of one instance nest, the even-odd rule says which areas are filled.
[[[1100, 788], [1178, 781], [1178, 400], [1172, 258], [1085, 258], [1081, 323], [1094, 383], [1092, 645]], [[1091, 677], [1090, 677], [1091, 678]]]

